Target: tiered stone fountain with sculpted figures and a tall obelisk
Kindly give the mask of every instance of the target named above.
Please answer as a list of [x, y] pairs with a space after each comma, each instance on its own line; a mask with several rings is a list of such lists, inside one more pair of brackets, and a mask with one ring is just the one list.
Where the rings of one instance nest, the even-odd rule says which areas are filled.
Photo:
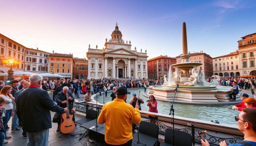
[[[170, 68], [168, 72], [168, 80], [166, 76], [164, 76], [164, 84], [149, 87], [150, 91], [147, 95], [153, 94], [158, 100], [172, 101], [176, 84], [179, 84], [175, 101], [181, 103], [192, 102], [195, 104], [229, 102], [229, 94], [232, 87], [218, 86], [220, 80], [218, 76], [216, 76], [216, 79], [214, 79], [212, 83], [206, 82], [202, 70], [200, 69], [199, 72], [197, 72], [197, 67], [202, 65], [202, 63], [189, 61], [190, 55], [188, 54], [187, 48], [185, 22], [183, 23], [182, 37], [183, 54], [180, 55], [181, 63], [171, 65], [172, 68], [175, 68], [175, 72], [172, 73]], [[239, 97], [239, 95], [237, 96]]]

